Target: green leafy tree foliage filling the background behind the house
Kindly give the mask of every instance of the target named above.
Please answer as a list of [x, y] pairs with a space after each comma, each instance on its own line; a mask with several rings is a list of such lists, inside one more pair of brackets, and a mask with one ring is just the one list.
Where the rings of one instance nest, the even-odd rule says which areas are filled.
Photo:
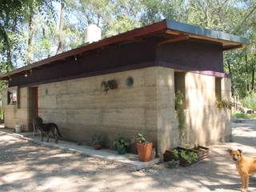
[[[58, 28], [58, 11], [65, 4], [64, 27]], [[53, 56], [62, 39], [62, 51], [84, 42], [90, 23], [102, 28], [102, 37], [139, 26], [175, 19], [211, 30], [223, 30], [250, 38], [246, 49], [226, 51], [224, 66], [232, 74], [232, 92], [239, 98], [254, 93], [256, 2], [247, 0], [3, 0], [0, 3], [0, 70], [26, 65], [28, 26], [34, 14], [32, 60]]]

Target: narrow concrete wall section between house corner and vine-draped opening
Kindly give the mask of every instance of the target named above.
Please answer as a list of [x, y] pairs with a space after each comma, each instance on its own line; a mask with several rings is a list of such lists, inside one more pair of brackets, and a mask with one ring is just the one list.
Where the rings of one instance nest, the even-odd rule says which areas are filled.
[[174, 105], [174, 70], [156, 68], [158, 107], [158, 152], [162, 155], [178, 143], [178, 124]]

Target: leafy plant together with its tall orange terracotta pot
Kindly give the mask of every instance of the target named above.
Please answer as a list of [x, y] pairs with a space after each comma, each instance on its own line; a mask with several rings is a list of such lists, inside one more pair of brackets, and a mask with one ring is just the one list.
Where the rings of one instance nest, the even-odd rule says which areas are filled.
[[147, 142], [143, 134], [136, 135], [138, 158], [141, 162], [149, 162], [152, 158], [153, 143]]

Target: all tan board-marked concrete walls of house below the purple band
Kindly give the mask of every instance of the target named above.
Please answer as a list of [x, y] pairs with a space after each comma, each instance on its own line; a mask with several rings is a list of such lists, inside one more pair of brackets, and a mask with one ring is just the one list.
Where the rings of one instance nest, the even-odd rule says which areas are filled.
[[[126, 86], [130, 76], [134, 78], [132, 87]], [[186, 92], [186, 142], [206, 144], [229, 138], [230, 110], [214, 105], [215, 77], [186, 73], [184, 78], [177, 79]], [[117, 80], [118, 89], [105, 93], [102, 81], [110, 79]], [[174, 70], [157, 66], [42, 84], [38, 86], [38, 114], [45, 122], [57, 123], [67, 140], [89, 144], [92, 134], [102, 134], [106, 146], [112, 146], [118, 134], [134, 138], [141, 132], [162, 154], [181, 144], [174, 83]], [[222, 99], [230, 100], [230, 78], [222, 78], [221, 84]], [[18, 122], [27, 127], [28, 94], [28, 88], [20, 90], [20, 109], [5, 105], [6, 126]]]

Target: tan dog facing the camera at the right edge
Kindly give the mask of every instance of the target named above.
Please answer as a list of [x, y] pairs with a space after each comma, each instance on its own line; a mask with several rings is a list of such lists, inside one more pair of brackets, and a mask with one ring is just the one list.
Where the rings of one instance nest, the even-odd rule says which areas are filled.
[[241, 176], [242, 186], [241, 191], [248, 191], [249, 187], [249, 174], [256, 173], [256, 158], [245, 157], [242, 150], [228, 150], [230, 158], [235, 162], [235, 166]]

